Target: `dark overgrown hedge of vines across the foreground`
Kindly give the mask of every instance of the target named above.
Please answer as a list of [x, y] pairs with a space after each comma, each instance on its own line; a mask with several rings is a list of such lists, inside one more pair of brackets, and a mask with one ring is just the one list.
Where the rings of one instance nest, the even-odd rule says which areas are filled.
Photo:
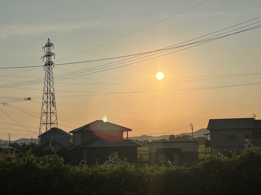
[[[56, 154], [0, 156], [1, 194], [259, 194], [260, 147], [213, 155], [188, 168], [69, 166]], [[121, 161], [117, 155], [110, 162]]]

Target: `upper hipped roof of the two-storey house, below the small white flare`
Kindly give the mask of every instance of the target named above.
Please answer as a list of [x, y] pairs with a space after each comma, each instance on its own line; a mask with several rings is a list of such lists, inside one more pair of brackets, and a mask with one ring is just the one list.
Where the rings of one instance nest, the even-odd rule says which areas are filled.
[[122, 127], [110, 122], [103, 122], [103, 120], [95, 120], [87, 125], [79, 127], [69, 133], [78, 131], [132, 131], [132, 129]]

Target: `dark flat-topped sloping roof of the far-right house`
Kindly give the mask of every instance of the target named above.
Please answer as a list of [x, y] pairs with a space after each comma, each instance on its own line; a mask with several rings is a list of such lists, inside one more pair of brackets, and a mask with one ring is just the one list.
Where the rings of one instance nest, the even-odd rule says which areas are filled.
[[209, 119], [207, 130], [211, 129], [249, 129], [254, 128], [254, 118]]

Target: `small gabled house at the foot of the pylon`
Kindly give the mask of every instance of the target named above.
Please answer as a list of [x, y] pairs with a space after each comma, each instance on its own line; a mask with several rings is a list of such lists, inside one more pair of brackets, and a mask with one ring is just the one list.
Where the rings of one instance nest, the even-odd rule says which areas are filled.
[[73, 145], [73, 136], [56, 127], [42, 133], [38, 138], [40, 138], [40, 148], [43, 151], [68, 149]]

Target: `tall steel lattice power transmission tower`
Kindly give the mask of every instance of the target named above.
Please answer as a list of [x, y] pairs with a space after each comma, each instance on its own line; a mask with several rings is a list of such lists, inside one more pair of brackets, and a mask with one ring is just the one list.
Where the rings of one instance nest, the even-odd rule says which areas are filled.
[[[39, 135], [48, 131], [52, 127], [57, 127], [57, 114], [56, 114], [56, 106], [55, 106], [55, 91], [53, 85], [53, 76], [52, 76], [52, 66], [54, 63], [52, 62], [52, 56], [55, 57], [55, 54], [51, 52], [53, 49], [53, 44], [50, 42], [48, 38], [45, 46], [43, 47], [44, 51], [46, 49], [46, 53], [44, 58], [46, 62], [44, 64], [45, 69], [45, 77], [44, 77], [44, 94], [42, 101], [42, 111], [41, 111], [41, 121], [40, 121], [40, 129]], [[39, 138], [40, 139], [40, 138]], [[38, 144], [40, 144], [38, 140]]]

